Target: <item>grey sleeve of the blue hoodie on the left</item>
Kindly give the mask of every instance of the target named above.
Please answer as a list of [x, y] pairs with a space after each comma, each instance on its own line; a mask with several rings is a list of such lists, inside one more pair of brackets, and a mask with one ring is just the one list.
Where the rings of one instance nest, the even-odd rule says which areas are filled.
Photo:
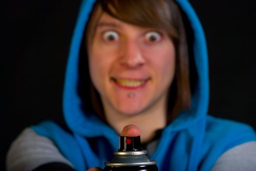
[[31, 128], [25, 128], [7, 152], [7, 171], [33, 171], [49, 163], [73, 168], [50, 139], [39, 136]]

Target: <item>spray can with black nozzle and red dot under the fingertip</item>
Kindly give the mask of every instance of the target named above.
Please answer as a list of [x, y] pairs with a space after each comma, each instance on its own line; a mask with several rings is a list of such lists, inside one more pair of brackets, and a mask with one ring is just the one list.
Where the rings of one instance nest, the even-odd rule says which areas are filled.
[[140, 136], [120, 136], [119, 149], [115, 157], [105, 162], [103, 171], [158, 171], [157, 162], [149, 160], [147, 150], [140, 147]]

